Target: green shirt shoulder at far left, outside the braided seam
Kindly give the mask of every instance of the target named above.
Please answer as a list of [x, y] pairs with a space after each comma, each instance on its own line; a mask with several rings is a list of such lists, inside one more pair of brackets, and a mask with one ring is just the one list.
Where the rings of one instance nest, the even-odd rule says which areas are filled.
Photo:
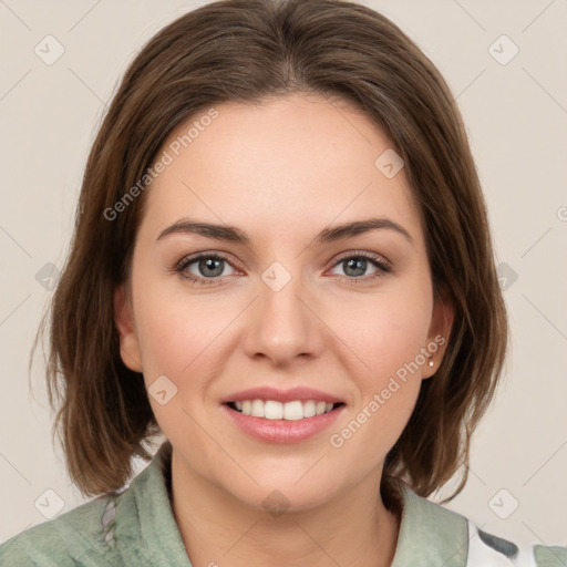
[[0, 567], [116, 565], [109, 537], [115, 496], [99, 496], [11, 537], [0, 545]]

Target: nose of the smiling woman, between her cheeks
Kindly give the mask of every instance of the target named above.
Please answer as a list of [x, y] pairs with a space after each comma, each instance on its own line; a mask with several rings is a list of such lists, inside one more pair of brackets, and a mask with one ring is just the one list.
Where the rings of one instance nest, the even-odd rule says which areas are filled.
[[320, 317], [318, 302], [302, 278], [276, 265], [259, 279], [258, 296], [246, 321], [245, 350], [249, 357], [266, 358], [277, 367], [316, 358], [323, 346]]

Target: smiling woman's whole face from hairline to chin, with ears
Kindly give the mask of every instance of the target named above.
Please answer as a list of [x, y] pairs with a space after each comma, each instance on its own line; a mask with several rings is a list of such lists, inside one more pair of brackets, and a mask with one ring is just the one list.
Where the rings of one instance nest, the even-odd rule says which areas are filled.
[[297, 94], [215, 111], [159, 153], [131, 310], [115, 296], [122, 359], [187, 477], [306, 509], [380, 480], [451, 312], [403, 163], [368, 117]]

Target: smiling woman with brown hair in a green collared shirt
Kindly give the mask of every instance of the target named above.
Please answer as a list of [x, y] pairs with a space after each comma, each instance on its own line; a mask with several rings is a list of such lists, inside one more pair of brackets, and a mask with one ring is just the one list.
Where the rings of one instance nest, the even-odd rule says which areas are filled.
[[92, 147], [50, 324], [96, 498], [1, 565], [565, 560], [426, 499], [466, 482], [507, 322], [451, 92], [369, 8], [220, 1], [155, 35]]

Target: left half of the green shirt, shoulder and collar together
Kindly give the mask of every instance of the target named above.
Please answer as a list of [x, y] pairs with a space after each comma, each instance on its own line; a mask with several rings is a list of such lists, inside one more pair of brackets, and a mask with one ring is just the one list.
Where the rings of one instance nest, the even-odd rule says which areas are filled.
[[190, 567], [169, 505], [167, 444], [122, 489], [0, 545], [0, 567]]

